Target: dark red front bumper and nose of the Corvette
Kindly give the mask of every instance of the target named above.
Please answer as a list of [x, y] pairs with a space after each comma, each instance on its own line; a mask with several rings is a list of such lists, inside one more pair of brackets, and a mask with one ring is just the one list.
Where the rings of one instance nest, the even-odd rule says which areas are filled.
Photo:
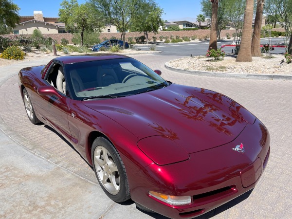
[[[245, 152], [233, 149], [241, 143]], [[131, 197], [166, 217], [194, 218], [253, 189], [268, 162], [269, 153], [269, 132], [256, 119], [226, 145], [190, 154], [190, 159], [184, 162], [148, 165], [137, 174], [134, 185], [130, 185]], [[172, 206], [150, 196], [149, 191], [191, 196], [192, 202]]]

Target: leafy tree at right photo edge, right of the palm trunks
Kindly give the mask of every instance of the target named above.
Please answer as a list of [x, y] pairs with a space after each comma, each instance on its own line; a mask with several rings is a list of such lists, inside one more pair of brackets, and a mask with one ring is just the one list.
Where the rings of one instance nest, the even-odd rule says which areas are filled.
[[266, 13], [274, 16], [290, 36], [288, 53], [292, 55], [292, 0], [266, 0], [265, 8]]

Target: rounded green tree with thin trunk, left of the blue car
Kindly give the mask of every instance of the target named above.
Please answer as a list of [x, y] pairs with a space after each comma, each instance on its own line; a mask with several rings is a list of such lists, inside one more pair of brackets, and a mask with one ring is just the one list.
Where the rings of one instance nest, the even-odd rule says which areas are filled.
[[94, 11], [90, 3], [78, 4], [77, 0], [63, 0], [59, 9], [60, 21], [65, 23], [66, 31], [80, 31], [81, 46], [83, 46], [84, 32], [100, 31], [104, 23], [100, 14]]

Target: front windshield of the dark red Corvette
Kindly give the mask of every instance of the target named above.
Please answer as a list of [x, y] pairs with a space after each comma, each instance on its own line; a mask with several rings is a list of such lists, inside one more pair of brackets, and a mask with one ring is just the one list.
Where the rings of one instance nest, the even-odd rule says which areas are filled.
[[65, 65], [73, 99], [116, 98], [164, 88], [168, 83], [133, 58]]

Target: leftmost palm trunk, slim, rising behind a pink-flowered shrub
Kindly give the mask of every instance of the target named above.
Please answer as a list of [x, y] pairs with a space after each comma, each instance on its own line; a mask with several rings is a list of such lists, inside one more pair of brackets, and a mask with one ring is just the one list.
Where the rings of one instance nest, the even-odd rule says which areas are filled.
[[212, 2], [212, 18], [211, 18], [211, 33], [209, 50], [217, 50], [217, 30], [218, 30], [218, 0], [211, 0]]

